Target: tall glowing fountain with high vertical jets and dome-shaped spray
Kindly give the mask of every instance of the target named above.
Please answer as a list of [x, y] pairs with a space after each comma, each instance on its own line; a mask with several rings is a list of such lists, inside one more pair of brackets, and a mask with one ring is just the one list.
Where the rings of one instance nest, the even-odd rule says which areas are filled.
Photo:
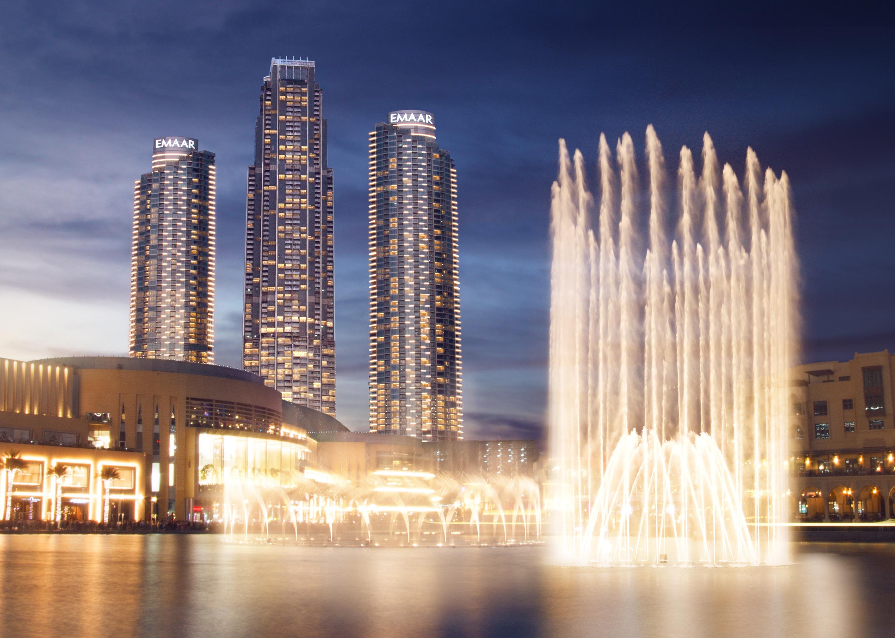
[[595, 203], [583, 156], [559, 143], [548, 502], [557, 559], [786, 562], [786, 372], [797, 342], [788, 177], [762, 175], [750, 148], [741, 187], [729, 164], [719, 171], [706, 134], [701, 174], [683, 147], [669, 189], [652, 126], [646, 164], [639, 206], [631, 137], [613, 158], [601, 136]]

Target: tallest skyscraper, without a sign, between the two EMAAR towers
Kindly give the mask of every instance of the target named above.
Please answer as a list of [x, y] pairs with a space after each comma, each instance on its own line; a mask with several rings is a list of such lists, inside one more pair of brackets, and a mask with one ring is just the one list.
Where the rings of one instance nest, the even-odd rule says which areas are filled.
[[310, 60], [270, 61], [245, 232], [243, 368], [286, 400], [336, 414], [333, 172]]

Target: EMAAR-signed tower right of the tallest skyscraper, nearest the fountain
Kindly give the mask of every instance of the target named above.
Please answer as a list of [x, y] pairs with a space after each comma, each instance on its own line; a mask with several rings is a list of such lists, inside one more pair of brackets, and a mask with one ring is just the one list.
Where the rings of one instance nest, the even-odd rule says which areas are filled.
[[370, 432], [463, 438], [456, 171], [435, 117], [370, 134]]

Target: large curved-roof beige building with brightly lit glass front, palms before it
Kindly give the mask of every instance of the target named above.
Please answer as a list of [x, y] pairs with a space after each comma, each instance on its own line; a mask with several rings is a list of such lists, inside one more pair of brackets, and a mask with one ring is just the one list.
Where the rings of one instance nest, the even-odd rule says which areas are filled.
[[97, 477], [113, 465], [124, 519], [209, 519], [225, 475], [324, 475], [310, 432], [347, 428], [234, 368], [132, 357], [0, 359], [0, 455], [15, 449], [30, 464], [10, 479], [16, 503], [33, 499], [28, 512], [16, 506], [24, 517], [49, 516], [55, 485], [47, 472], [63, 463], [73, 468], [64, 499], [86, 506], [80, 516], [100, 519]]

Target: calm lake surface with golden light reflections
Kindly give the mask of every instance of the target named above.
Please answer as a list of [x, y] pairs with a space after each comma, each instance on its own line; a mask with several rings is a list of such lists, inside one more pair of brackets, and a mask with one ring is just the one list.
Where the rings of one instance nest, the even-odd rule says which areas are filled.
[[[545, 567], [539, 547], [240, 545], [0, 536], [0, 634], [874, 636], [895, 549], [803, 546], [789, 567]], [[835, 553], [833, 553], [835, 552]]]

